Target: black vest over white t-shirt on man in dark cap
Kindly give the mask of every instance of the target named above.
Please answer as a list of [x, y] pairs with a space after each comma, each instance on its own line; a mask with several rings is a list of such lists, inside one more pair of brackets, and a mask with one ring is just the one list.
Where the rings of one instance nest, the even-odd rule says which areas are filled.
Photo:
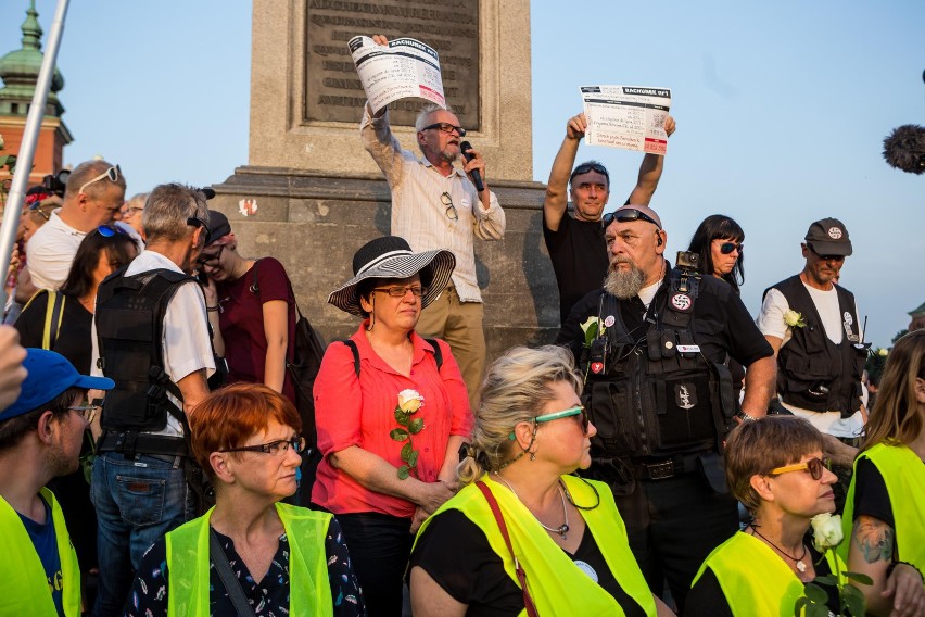
[[[861, 408], [861, 374], [870, 345], [861, 341], [860, 322], [850, 291], [835, 286], [845, 330], [839, 344], [826, 336], [822, 318], [800, 280], [793, 276], [773, 287], [787, 299], [806, 326], [790, 328], [793, 338], [777, 353], [777, 392], [785, 403], [812, 412], [841, 412], [849, 418]], [[765, 291], [766, 293], [766, 291]]]

